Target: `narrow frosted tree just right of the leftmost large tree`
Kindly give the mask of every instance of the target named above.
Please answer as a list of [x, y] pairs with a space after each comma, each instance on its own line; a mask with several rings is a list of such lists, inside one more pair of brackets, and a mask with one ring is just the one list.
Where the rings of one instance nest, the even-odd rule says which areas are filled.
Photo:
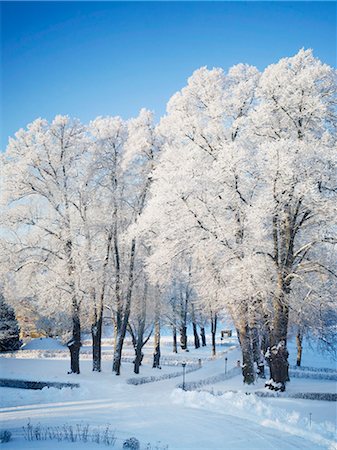
[[88, 260], [88, 268], [96, 276], [96, 289], [92, 293], [91, 334], [93, 370], [100, 371], [104, 307], [109, 306], [111, 309], [114, 306], [109, 299], [111, 295], [117, 304], [122, 302], [121, 279], [124, 266], [121, 263], [120, 235], [125, 226], [126, 213], [122, 203], [125, 186], [121, 164], [127, 127], [120, 117], [98, 117], [91, 122], [89, 130], [94, 141], [94, 214], [98, 219], [91, 231], [88, 228], [90, 234], [87, 237], [92, 257], [92, 261]]

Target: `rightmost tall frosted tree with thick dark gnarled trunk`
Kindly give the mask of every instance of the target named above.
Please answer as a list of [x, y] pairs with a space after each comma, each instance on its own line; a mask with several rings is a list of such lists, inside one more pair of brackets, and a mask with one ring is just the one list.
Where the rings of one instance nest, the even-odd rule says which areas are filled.
[[326, 256], [336, 215], [336, 73], [311, 50], [300, 50], [264, 71], [257, 98], [250, 131], [275, 270], [269, 358], [271, 378], [283, 389], [289, 308], [296, 310], [289, 300], [293, 280], [331, 270]]

